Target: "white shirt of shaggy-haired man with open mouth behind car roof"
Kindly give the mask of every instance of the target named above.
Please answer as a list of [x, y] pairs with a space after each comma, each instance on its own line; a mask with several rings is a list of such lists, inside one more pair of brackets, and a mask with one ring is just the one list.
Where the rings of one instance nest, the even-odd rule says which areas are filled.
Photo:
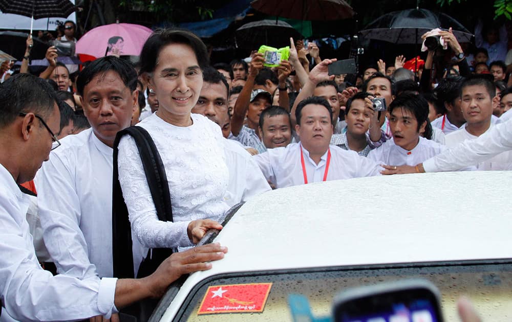
[[445, 146], [419, 137], [418, 144], [412, 150], [406, 150], [397, 146], [394, 140], [386, 141], [380, 147], [370, 151], [368, 158], [374, 160], [378, 164], [390, 166], [415, 166], [424, 160], [433, 157], [444, 151]]

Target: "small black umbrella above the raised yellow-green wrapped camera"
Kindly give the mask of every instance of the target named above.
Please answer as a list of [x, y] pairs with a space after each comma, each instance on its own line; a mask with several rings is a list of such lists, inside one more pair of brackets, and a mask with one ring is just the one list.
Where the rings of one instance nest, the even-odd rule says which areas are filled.
[[236, 31], [237, 45], [248, 50], [258, 50], [261, 45], [286, 47], [290, 45], [290, 37], [300, 39], [302, 35], [280, 20], [249, 22]]

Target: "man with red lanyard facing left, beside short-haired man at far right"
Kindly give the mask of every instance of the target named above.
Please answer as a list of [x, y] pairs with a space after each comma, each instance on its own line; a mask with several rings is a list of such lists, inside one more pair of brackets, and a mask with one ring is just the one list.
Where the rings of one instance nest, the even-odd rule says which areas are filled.
[[432, 127], [437, 127], [444, 134], [458, 130], [466, 123], [460, 109], [460, 84], [461, 77], [444, 78], [436, 87], [437, 97], [440, 104], [444, 104], [446, 113], [432, 121]]

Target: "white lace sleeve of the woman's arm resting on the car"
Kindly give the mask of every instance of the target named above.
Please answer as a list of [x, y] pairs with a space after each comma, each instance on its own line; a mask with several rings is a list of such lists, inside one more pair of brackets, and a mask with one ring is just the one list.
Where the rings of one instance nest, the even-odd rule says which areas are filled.
[[130, 217], [132, 231], [144, 247], [172, 248], [192, 246], [188, 239], [188, 221], [160, 221], [147, 184], [135, 140], [125, 135], [117, 156], [119, 183]]

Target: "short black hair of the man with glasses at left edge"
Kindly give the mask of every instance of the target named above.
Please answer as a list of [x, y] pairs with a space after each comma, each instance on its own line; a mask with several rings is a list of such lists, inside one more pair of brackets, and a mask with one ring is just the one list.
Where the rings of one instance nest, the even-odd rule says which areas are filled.
[[12, 124], [20, 112], [47, 119], [56, 103], [55, 90], [42, 78], [17, 74], [0, 84], [0, 102], [0, 128]]

